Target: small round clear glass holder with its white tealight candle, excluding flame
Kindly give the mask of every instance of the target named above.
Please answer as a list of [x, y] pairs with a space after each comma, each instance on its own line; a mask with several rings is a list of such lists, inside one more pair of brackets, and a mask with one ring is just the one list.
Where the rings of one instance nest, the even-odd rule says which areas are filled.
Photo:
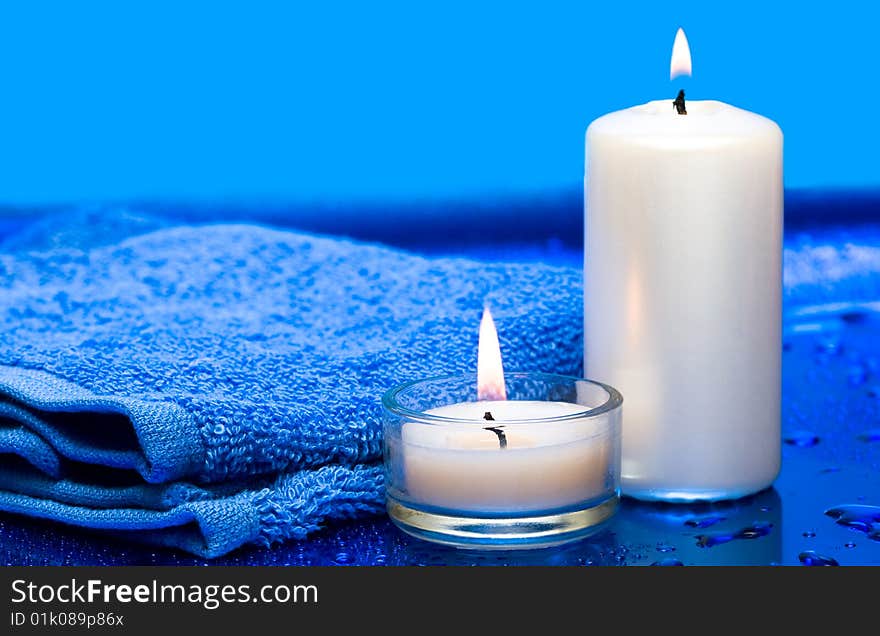
[[546, 547], [614, 514], [620, 393], [545, 373], [506, 373], [505, 384], [503, 401], [478, 400], [474, 374], [383, 396], [387, 507], [399, 528], [460, 547]]

